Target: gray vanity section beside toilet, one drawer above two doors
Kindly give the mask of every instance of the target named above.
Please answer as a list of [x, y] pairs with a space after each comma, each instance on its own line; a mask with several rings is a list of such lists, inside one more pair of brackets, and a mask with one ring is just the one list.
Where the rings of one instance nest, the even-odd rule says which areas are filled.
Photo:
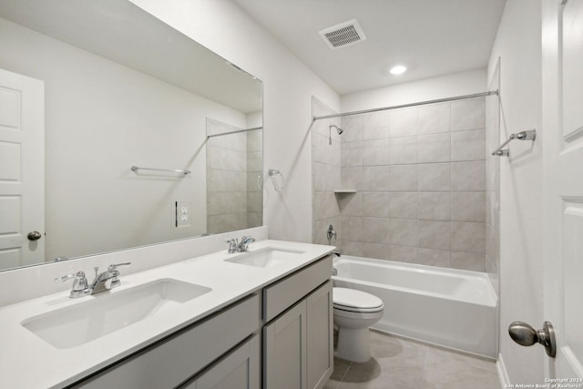
[[325, 258], [264, 289], [264, 314], [279, 313], [263, 327], [265, 389], [319, 389], [332, 374], [331, 273]]

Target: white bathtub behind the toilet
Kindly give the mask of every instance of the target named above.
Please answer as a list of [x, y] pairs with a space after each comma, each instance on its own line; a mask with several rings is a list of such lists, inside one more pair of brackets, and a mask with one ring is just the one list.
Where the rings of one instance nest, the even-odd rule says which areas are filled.
[[496, 357], [496, 292], [485, 273], [343, 255], [334, 286], [384, 302], [373, 328], [426, 343]]

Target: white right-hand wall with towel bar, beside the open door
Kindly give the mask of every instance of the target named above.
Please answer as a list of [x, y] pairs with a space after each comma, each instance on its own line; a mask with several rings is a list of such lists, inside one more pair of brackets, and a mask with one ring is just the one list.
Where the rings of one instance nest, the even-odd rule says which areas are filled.
[[[540, 50], [540, 2], [506, 0], [488, 67], [491, 78], [500, 57], [501, 139], [541, 129]], [[519, 346], [507, 328], [544, 322], [541, 142], [513, 142], [510, 150], [500, 160], [500, 361], [510, 383], [534, 384], [544, 380], [544, 350]]]

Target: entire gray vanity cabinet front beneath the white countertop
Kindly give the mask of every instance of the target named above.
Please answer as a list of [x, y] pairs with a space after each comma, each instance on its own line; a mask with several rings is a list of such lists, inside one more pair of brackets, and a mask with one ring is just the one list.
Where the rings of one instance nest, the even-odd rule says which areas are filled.
[[76, 388], [321, 389], [332, 374], [332, 258], [73, 384]]

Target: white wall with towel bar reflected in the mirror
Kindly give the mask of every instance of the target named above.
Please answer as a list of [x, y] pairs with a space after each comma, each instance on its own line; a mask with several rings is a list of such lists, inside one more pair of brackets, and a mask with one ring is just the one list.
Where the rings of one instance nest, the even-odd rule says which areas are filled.
[[[206, 118], [244, 128], [243, 113], [5, 19], [0, 34], [0, 68], [46, 85], [47, 259], [206, 231]], [[189, 227], [171, 226], [176, 200], [192, 205]]]

